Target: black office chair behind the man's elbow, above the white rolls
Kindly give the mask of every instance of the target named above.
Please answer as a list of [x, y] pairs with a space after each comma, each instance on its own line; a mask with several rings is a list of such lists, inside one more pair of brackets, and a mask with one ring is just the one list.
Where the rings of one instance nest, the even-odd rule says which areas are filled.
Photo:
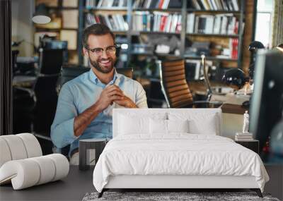
[[44, 139], [40, 144], [46, 154], [52, 153], [50, 126], [57, 107], [57, 80], [62, 64], [62, 49], [41, 49], [39, 73], [33, 88], [14, 89], [14, 130], [16, 133], [31, 132]]

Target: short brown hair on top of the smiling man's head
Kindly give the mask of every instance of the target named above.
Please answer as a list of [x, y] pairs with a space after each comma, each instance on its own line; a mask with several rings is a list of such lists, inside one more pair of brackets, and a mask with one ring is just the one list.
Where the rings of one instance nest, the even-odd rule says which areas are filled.
[[110, 34], [113, 41], [115, 42], [115, 35], [108, 28], [108, 26], [103, 24], [93, 24], [83, 30], [83, 47], [88, 46], [88, 36], [89, 35], [106, 35]]

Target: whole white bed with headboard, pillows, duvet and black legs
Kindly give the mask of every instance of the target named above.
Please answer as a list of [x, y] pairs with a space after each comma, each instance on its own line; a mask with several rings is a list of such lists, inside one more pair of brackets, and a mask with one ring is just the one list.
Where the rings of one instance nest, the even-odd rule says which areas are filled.
[[[187, 130], [186, 130], [187, 129]], [[269, 180], [258, 154], [221, 134], [221, 109], [114, 109], [93, 171], [109, 188], [250, 188]]]

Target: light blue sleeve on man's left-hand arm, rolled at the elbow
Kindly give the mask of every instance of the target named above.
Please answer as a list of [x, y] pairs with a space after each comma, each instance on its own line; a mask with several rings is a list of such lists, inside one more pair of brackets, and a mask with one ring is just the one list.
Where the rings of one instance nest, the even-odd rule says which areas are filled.
[[51, 139], [56, 147], [65, 147], [78, 137], [74, 135], [74, 118], [78, 115], [74, 95], [68, 85], [60, 90], [56, 114], [51, 126]]

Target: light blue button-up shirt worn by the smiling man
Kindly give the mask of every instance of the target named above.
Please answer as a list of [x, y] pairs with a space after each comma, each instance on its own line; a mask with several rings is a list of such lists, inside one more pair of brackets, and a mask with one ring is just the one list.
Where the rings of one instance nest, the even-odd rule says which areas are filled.
[[[108, 85], [112, 84], [120, 87], [124, 95], [132, 99], [139, 108], [147, 108], [146, 92], [136, 80], [115, 71], [114, 78]], [[98, 80], [92, 69], [63, 85], [51, 126], [51, 139], [56, 147], [71, 145], [71, 153], [79, 147], [81, 139], [112, 138], [112, 108], [115, 104], [98, 114], [82, 135], [74, 135], [74, 118], [95, 104], [106, 86]]]

